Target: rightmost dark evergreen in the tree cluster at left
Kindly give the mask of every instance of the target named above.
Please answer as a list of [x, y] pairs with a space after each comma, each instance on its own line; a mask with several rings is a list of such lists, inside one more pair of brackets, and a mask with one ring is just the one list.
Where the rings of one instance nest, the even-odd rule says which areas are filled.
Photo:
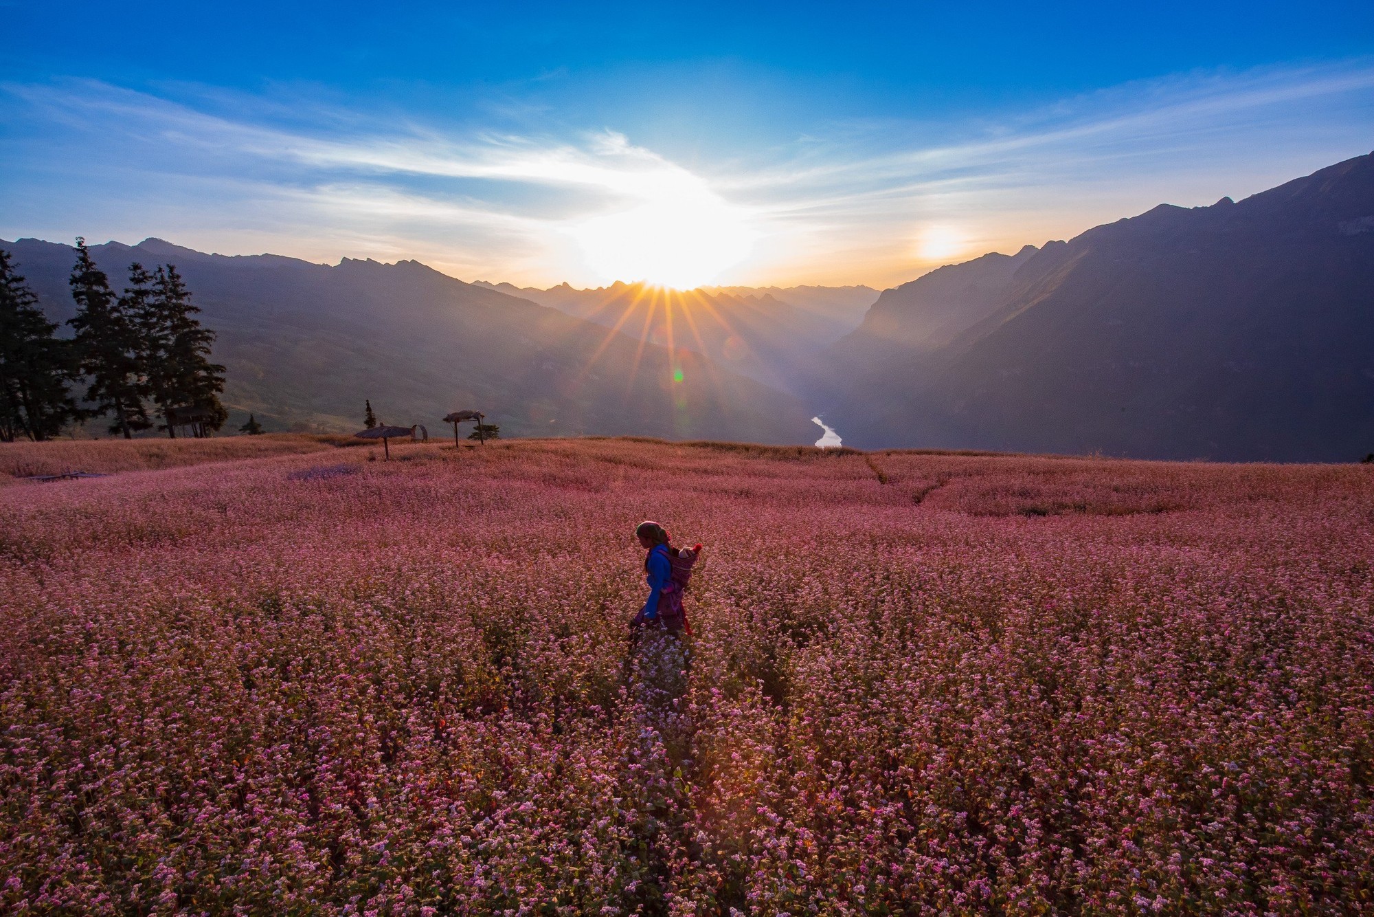
[[[164, 422], [168, 408], [196, 407], [212, 414], [198, 429], [217, 430], [229, 417], [220, 401], [224, 367], [210, 363], [214, 331], [201, 326], [195, 318], [199, 311], [176, 267], [159, 267], [143, 323], [143, 359], [148, 367], [148, 389]], [[176, 439], [172, 423], [165, 426], [168, 436]]]

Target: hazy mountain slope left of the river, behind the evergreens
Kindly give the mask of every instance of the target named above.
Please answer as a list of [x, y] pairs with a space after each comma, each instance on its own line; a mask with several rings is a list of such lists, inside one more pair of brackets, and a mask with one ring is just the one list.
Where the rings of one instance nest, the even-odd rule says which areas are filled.
[[[65, 245], [0, 242], [54, 319], [73, 312]], [[387, 423], [442, 433], [475, 407], [508, 434], [620, 434], [804, 443], [811, 412], [703, 356], [640, 348], [599, 324], [463, 283], [416, 261], [202, 254], [159, 239], [92, 246], [120, 289], [131, 261], [173, 263], [228, 367], [231, 423], [353, 430], [371, 399]], [[675, 381], [675, 371], [680, 381]]]

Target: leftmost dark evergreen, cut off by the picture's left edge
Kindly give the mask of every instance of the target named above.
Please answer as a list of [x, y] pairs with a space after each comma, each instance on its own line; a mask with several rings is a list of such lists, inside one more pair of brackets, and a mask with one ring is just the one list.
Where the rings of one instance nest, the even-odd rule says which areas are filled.
[[67, 392], [77, 377], [70, 341], [38, 308], [38, 298], [0, 250], [0, 440], [34, 443], [62, 432], [81, 411]]

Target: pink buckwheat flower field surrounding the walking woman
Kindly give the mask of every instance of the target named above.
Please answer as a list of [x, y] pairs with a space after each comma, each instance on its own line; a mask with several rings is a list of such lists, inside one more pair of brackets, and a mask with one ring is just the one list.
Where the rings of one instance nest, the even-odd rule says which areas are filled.
[[1374, 912], [1374, 467], [106, 448], [0, 487], [5, 913]]

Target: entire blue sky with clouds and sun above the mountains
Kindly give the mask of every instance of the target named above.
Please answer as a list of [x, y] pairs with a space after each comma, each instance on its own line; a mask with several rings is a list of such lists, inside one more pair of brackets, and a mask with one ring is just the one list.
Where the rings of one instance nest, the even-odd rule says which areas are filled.
[[397, 5], [0, 0], [0, 236], [886, 286], [1374, 147], [1367, 0]]

